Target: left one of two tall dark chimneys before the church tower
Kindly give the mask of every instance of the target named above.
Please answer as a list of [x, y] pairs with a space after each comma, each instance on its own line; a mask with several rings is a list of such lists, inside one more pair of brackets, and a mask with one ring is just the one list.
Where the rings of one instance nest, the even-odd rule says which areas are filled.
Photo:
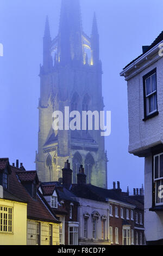
[[70, 189], [72, 184], [72, 170], [68, 160], [65, 162], [65, 168], [62, 169], [62, 184], [65, 188]]

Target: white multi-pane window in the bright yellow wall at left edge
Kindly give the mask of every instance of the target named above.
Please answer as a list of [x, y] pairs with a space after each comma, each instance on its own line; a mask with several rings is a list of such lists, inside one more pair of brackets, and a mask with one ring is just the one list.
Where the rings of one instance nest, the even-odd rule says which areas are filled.
[[0, 232], [12, 233], [12, 208], [0, 206]]

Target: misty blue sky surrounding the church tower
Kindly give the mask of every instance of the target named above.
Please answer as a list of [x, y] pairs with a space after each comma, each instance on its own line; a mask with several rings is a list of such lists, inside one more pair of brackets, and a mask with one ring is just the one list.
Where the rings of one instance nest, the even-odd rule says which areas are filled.
[[[154, 4], [153, 4], [154, 3]], [[19, 159], [35, 170], [40, 97], [39, 66], [46, 15], [51, 35], [58, 33], [61, 0], [0, 0], [0, 157]], [[103, 63], [105, 110], [111, 110], [111, 135], [106, 138], [108, 184], [120, 181], [140, 188], [143, 158], [128, 153], [127, 82], [120, 77], [126, 64], [142, 53], [163, 30], [162, 0], [80, 0], [83, 30], [91, 34], [96, 11]]]

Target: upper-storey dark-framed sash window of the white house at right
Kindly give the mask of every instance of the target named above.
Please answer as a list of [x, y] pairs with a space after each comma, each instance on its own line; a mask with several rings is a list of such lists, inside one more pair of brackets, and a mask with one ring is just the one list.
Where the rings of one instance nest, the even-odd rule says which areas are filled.
[[153, 70], [143, 77], [143, 85], [146, 118], [158, 110], [156, 95], [156, 70]]

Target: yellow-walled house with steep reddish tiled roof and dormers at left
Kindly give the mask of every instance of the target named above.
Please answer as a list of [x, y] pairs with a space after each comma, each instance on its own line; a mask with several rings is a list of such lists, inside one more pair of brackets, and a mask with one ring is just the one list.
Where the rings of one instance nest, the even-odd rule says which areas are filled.
[[36, 171], [0, 158], [0, 245], [59, 245], [60, 221], [38, 184]]

